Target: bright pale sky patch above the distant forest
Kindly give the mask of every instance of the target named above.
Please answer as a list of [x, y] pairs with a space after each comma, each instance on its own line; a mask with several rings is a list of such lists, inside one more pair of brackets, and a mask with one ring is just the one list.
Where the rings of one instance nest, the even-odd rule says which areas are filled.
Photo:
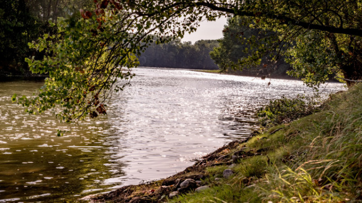
[[197, 31], [191, 34], [185, 33], [182, 42], [191, 41], [192, 44], [201, 39], [220, 39], [223, 37], [223, 29], [226, 24], [226, 17], [216, 19], [216, 21], [204, 20], [200, 23]]

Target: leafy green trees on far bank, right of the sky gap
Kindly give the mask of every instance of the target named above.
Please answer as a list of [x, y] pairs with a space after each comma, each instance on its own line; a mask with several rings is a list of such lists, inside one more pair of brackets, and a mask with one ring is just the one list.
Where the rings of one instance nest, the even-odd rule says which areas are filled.
[[[290, 65], [284, 60], [274, 63], [270, 56], [261, 57], [260, 60], [257, 58], [254, 63], [249, 63], [248, 69], [244, 69], [245, 64], [241, 61], [257, 51], [253, 48], [254, 44], [249, 43], [250, 40], [262, 38], [264, 34], [265, 31], [261, 29], [245, 26], [240, 16], [229, 18], [224, 26], [223, 38], [218, 40], [219, 46], [210, 52], [210, 56], [224, 72], [239, 70], [244, 75], [287, 77]], [[262, 42], [261, 46], [265, 47], [267, 43]]]

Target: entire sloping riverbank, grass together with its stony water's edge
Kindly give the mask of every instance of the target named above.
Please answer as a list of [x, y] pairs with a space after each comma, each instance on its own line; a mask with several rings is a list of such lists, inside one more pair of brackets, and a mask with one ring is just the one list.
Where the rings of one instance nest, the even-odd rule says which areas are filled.
[[[331, 95], [317, 113], [231, 142], [167, 179], [88, 200], [362, 202], [361, 115], [359, 84]], [[186, 187], [187, 179], [194, 181]]]

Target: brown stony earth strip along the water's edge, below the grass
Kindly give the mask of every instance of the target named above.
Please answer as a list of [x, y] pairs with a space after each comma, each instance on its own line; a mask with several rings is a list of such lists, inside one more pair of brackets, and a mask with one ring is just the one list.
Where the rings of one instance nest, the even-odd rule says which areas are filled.
[[[179, 195], [185, 192], [189, 192], [192, 189], [197, 190], [197, 188], [206, 186], [202, 180], [209, 178], [209, 175], [206, 171], [207, 167], [234, 165], [231, 154], [233, 154], [234, 151], [237, 151], [237, 148], [240, 144], [246, 143], [254, 135], [255, 132], [251, 133], [250, 136], [246, 139], [231, 141], [228, 144], [225, 144], [224, 146], [216, 149], [214, 152], [203, 156], [201, 160], [197, 161], [192, 166], [187, 167], [184, 171], [177, 172], [170, 177], [138, 185], [123, 186], [116, 190], [102, 194], [88, 195], [81, 198], [80, 200], [87, 201], [89, 203], [158, 203], [167, 201], [172, 193], [178, 192], [175, 195]], [[258, 154], [248, 154], [248, 156], [245, 157], [255, 155]], [[180, 185], [182, 182], [190, 179], [194, 180], [196, 185], [181, 189]]]

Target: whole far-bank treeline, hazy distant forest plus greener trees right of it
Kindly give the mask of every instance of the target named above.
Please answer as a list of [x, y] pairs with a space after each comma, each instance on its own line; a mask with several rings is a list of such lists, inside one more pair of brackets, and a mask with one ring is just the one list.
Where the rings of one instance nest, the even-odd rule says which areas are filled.
[[[235, 64], [245, 56], [244, 47], [241, 46], [240, 38], [232, 28], [234, 24], [225, 26], [224, 37], [219, 40], [199, 40], [195, 44], [181, 42], [180, 39], [164, 44], [153, 43], [138, 56], [139, 66], [185, 68], [218, 70], [225, 73], [233, 73], [242, 76], [289, 78], [287, 71], [290, 65], [280, 60], [271, 68], [264, 68], [262, 64], [252, 68], [244, 68], [243, 71], [224, 67], [225, 64]], [[238, 28], [242, 29], [242, 28]], [[211, 55], [211, 56], [210, 56]], [[262, 63], [265, 62], [265, 59]], [[236, 69], [238, 69], [236, 67]]]

